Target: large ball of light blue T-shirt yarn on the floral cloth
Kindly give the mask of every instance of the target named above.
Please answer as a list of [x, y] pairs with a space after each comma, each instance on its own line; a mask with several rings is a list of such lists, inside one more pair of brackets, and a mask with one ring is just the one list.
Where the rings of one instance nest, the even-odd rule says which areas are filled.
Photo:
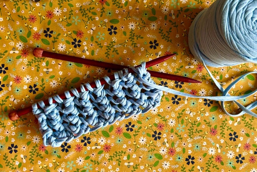
[[192, 22], [190, 50], [207, 66], [257, 63], [256, 20], [256, 0], [216, 0]]

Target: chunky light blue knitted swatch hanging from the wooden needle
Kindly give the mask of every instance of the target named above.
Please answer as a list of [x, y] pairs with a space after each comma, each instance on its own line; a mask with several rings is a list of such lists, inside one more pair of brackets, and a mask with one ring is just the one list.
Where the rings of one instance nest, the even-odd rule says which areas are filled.
[[[115, 72], [115, 80], [104, 77], [107, 84], [95, 80], [96, 88], [88, 83], [81, 85], [81, 92], [71, 89], [65, 91], [66, 99], [58, 95], [49, 97], [49, 106], [43, 101], [32, 105], [32, 113], [37, 117], [39, 130], [45, 146], [59, 147], [82, 134], [114, 124], [133, 115], [146, 113], [160, 105], [162, 90], [149, 87], [141, 80], [155, 85], [145, 62], [138, 68], [132, 67], [136, 74], [124, 71]], [[85, 90], [85, 87], [88, 89]], [[53, 103], [53, 99], [57, 103]]]

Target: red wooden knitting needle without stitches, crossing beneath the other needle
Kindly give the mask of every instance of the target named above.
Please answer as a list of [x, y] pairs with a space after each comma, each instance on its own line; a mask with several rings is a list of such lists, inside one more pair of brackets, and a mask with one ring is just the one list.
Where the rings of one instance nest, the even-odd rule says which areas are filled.
[[[122, 66], [119, 64], [98, 62], [98, 61], [91, 60], [91, 59], [84, 59], [84, 58], [80, 58], [80, 57], [73, 57], [73, 56], [69, 56], [69, 55], [57, 54], [54, 52], [48, 52], [42, 48], [35, 48], [33, 51], [33, 55], [35, 57], [49, 57], [49, 58], [53, 58], [53, 59], [65, 60], [65, 61], [74, 62], [74, 63], [87, 64], [90, 66], [98, 66], [98, 67], [102, 67], [102, 68], [109, 68], [109, 69], [113, 69], [113, 70], [122, 70], [124, 68], [129, 68], [128, 66]], [[171, 54], [171, 55], [167, 55], [167, 56], [173, 57], [175, 55], [176, 54]], [[185, 83], [202, 83], [201, 81], [187, 78], [184, 76], [172, 75], [172, 74], [168, 74], [168, 73], [161, 73], [161, 72], [155, 72], [155, 71], [149, 71], [149, 70], [147, 70], [147, 71], [153, 77], [175, 80], [175, 81], [185, 82]]]

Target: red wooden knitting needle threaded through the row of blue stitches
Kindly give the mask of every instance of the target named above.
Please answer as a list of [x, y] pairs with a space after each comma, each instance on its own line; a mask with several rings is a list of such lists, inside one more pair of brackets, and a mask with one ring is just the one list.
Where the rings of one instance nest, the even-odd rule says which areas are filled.
[[[145, 68], [148, 68], [150, 66], [153, 66], [153, 65], [159, 64], [161, 62], [164, 62], [165, 60], [167, 60], [171, 57], [172, 57], [172, 55], [163, 56], [163, 57], [159, 57], [157, 59], [153, 59], [153, 60], [145, 63]], [[140, 66], [140, 65], [138, 65], [138, 66]], [[138, 66], [136, 66], [136, 67], [138, 67]], [[135, 73], [131, 68], [129, 68], [128, 71], [129, 71], [129, 73]], [[110, 78], [111, 81], [115, 79], [114, 75], [109, 76], [109, 78]], [[101, 83], [101, 85], [105, 84], [106, 83], [105, 79], [104, 78], [100, 79], [100, 83]], [[90, 86], [92, 88], [96, 87], [95, 82], [90, 83]], [[84, 87], [84, 88], [85, 88], [85, 90], [88, 90], [86, 87]], [[81, 92], [80, 87], [77, 88], [77, 91]], [[74, 94], [71, 91], [69, 91], [69, 92], [70, 92], [71, 96], [74, 96]], [[59, 96], [60, 96], [61, 99], [66, 99], [65, 94], [61, 94]], [[53, 103], [56, 103], [56, 101], [54, 99], [53, 99]], [[44, 100], [44, 104], [46, 106], [49, 105], [48, 100]], [[37, 104], [37, 107], [41, 108], [38, 104]], [[21, 109], [21, 110], [14, 110], [14, 111], [10, 112], [8, 114], [8, 116], [9, 116], [10, 120], [14, 121], [14, 120], [18, 120], [20, 118], [20, 116], [25, 115], [25, 114], [30, 113], [30, 112], [32, 112], [32, 106], [29, 106], [29, 107]]]

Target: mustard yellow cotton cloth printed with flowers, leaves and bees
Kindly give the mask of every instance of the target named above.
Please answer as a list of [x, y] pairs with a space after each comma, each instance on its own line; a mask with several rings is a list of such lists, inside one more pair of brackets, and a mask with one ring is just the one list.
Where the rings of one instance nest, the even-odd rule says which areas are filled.
[[[32, 113], [16, 121], [8, 119], [11, 110], [114, 72], [37, 58], [32, 55], [35, 47], [125, 66], [177, 53], [150, 69], [194, 78], [202, 84], [154, 81], [190, 94], [219, 95], [203, 65], [190, 54], [187, 41], [192, 20], [212, 2], [2, 0], [0, 171], [257, 171], [256, 119], [250, 115], [228, 117], [216, 101], [164, 93], [158, 108], [60, 148], [44, 147]], [[226, 87], [257, 67], [248, 63], [210, 69]], [[251, 92], [255, 80], [249, 75], [230, 94]], [[255, 99], [256, 95], [239, 102], [247, 105]], [[226, 104], [231, 113], [237, 113], [237, 108], [232, 102]]]

